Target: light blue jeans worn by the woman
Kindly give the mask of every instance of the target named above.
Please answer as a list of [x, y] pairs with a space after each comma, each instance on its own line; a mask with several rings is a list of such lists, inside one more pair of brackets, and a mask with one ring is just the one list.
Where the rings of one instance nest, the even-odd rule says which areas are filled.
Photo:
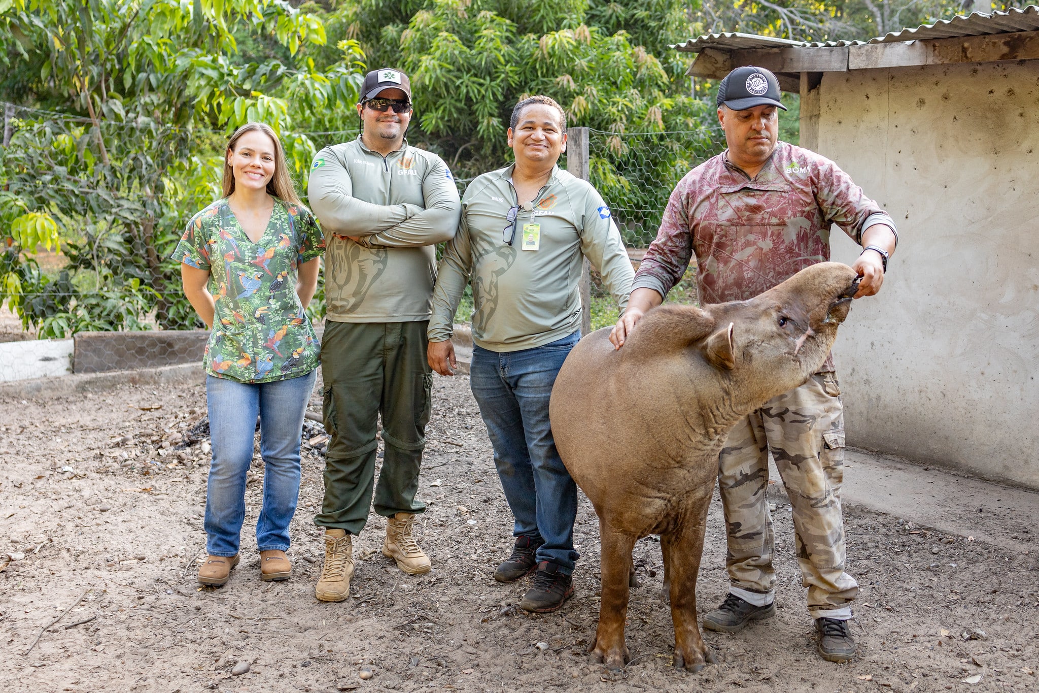
[[317, 370], [273, 382], [206, 377], [213, 462], [206, 488], [206, 550], [235, 556], [245, 522], [245, 473], [260, 417], [264, 461], [263, 508], [257, 519], [259, 551], [289, 548], [289, 523], [299, 498], [299, 442]]

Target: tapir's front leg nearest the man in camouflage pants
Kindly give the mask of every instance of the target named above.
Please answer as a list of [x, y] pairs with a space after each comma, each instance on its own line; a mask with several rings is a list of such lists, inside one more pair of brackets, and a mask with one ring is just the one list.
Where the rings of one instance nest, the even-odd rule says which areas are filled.
[[696, 621], [696, 576], [703, 552], [709, 502], [710, 498], [703, 502], [701, 510], [689, 513], [685, 526], [675, 528], [672, 534], [661, 536], [661, 545], [667, 542], [664, 555], [668, 559], [668, 575], [671, 579], [674, 666], [685, 667], [693, 672], [715, 662], [714, 655], [700, 637]]

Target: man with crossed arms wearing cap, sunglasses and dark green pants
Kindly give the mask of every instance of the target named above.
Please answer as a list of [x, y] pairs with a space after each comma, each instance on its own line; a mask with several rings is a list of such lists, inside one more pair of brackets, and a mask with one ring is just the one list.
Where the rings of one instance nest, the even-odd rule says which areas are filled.
[[451, 171], [408, 146], [411, 86], [399, 70], [365, 76], [361, 135], [321, 150], [311, 166], [311, 207], [325, 232], [321, 340], [325, 494], [314, 523], [325, 528], [325, 562], [315, 592], [349, 596], [352, 537], [372, 505], [378, 419], [384, 446], [374, 489], [387, 517], [382, 553], [408, 574], [430, 569], [412, 534], [432, 375], [426, 359], [434, 245], [451, 239], [459, 201]]

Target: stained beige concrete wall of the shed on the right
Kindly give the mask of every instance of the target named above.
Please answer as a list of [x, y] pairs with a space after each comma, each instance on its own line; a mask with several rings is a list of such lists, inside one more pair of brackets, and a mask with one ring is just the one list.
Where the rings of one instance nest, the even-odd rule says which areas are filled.
[[901, 233], [834, 348], [849, 444], [1039, 488], [1039, 60], [828, 73], [817, 96], [817, 151]]

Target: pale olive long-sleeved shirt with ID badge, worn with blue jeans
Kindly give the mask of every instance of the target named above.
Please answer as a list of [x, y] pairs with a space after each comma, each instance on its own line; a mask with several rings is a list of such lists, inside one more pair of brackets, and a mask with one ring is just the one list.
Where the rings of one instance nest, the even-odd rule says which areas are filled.
[[458, 233], [448, 243], [433, 290], [429, 339], [451, 338], [465, 284], [473, 286], [473, 340], [491, 351], [542, 346], [581, 327], [582, 257], [603, 275], [621, 310], [635, 271], [609, 208], [591, 185], [553, 169], [535, 199], [520, 208], [512, 243], [503, 238], [516, 205], [512, 168], [473, 181]]

